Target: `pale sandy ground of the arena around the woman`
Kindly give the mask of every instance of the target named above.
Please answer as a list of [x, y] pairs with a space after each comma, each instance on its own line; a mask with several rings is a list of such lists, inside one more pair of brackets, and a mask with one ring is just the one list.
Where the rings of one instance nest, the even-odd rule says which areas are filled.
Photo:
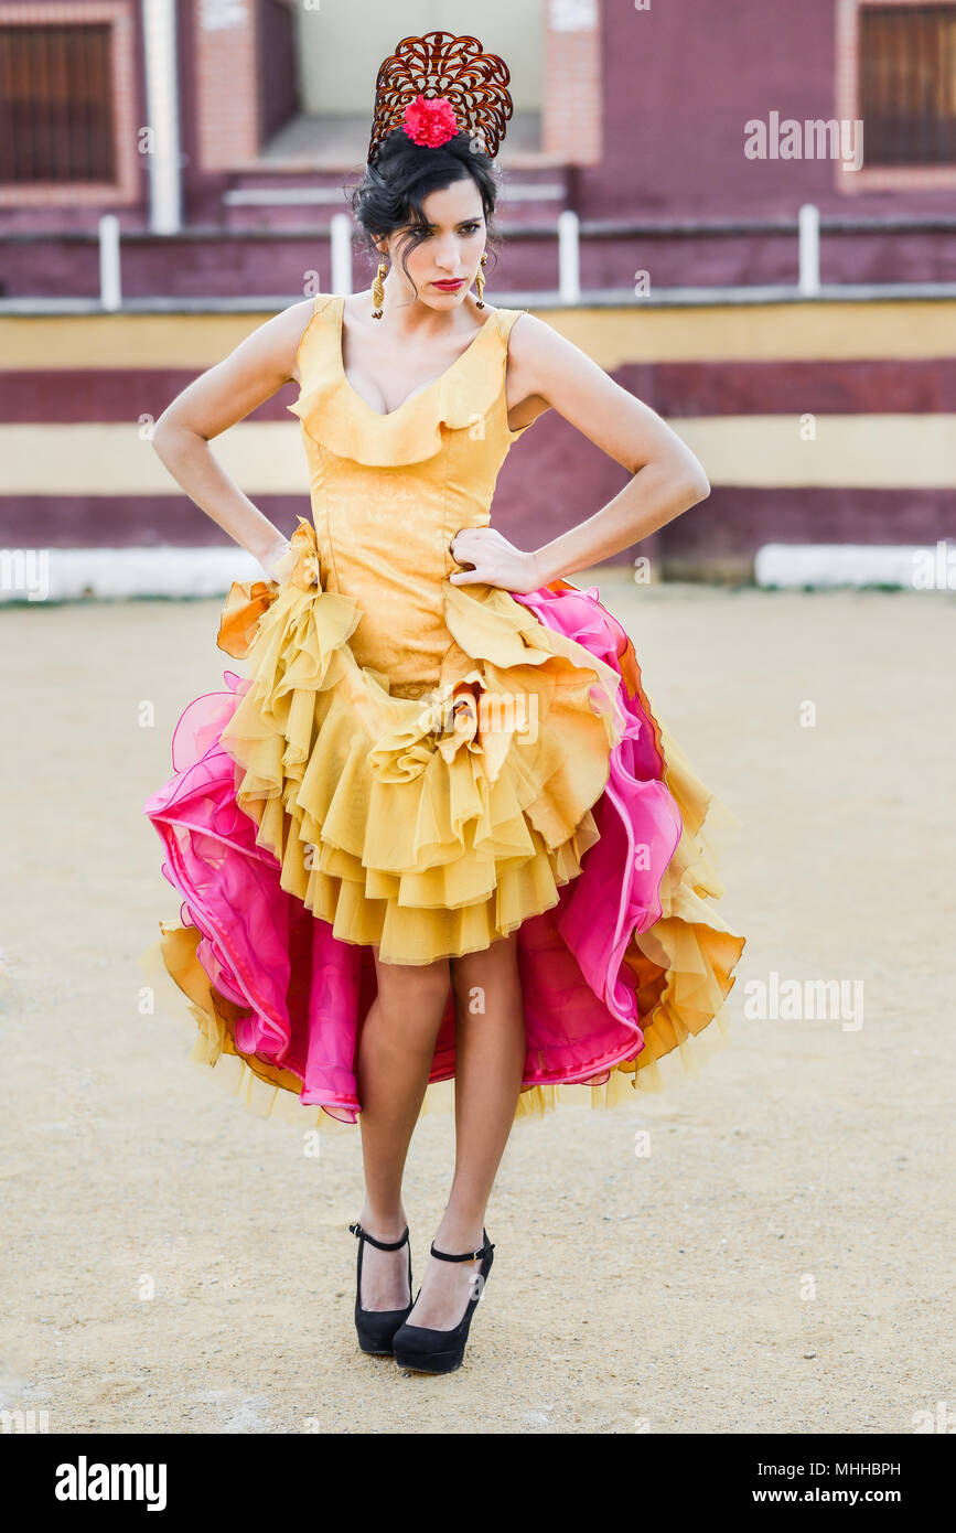
[[[2, 1406], [57, 1433], [909, 1433], [953, 1410], [953, 599], [591, 583], [743, 822], [723, 908], [749, 946], [697, 1078], [516, 1125], [444, 1380], [357, 1351], [358, 1131], [306, 1156], [187, 1061], [185, 1007], [138, 1010], [178, 912], [141, 803], [185, 702], [237, 668], [221, 604], [0, 612]], [[863, 1027], [748, 1018], [772, 972], [863, 981]], [[450, 1154], [424, 1118], [417, 1279]]]

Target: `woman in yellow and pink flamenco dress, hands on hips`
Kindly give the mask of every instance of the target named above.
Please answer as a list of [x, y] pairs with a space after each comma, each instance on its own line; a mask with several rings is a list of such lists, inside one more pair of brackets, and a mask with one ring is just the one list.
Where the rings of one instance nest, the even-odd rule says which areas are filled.
[[[437, 58], [450, 84], [426, 98]], [[144, 806], [188, 915], [161, 923], [162, 960], [201, 1058], [239, 1056], [276, 1095], [360, 1121], [358, 1340], [423, 1372], [461, 1361], [522, 1098], [544, 1110], [585, 1082], [610, 1105], [715, 1016], [743, 947], [703, 908], [720, 892], [699, 837], [709, 796], [624, 630], [562, 579], [709, 486], [582, 351], [483, 300], [507, 78], [475, 38], [400, 44], [352, 199], [372, 288], [268, 320], [153, 437], [270, 575], [234, 584], [222, 615], [221, 647], [251, 675], [185, 710], [176, 776]], [[290, 380], [314, 523], [286, 540], [208, 440]], [[547, 409], [633, 478], [524, 552], [489, 506]], [[412, 1305], [401, 1176], [429, 1082], [452, 1076], [455, 1173]]]

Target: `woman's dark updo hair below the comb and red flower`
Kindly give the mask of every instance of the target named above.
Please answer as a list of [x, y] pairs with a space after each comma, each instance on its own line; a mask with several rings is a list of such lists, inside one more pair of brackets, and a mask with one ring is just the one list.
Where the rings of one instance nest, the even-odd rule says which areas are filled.
[[496, 254], [492, 239], [498, 242], [493, 227], [498, 172], [490, 155], [478, 149], [476, 143], [472, 146], [469, 133], [455, 133], [438, 149], [415, 144], [403, 127], [394, 127], [385, 135], [374, 161], [365, 167], [365, 179], [349, 193], [355, 222], [365, 230], [368, 245], [374, 250], [375, 238], [392, 235], [397, 228], [411, 228], [408, 239], [401, 242], [401, 270], [408, 277], [409, 253], [423, 242], [429, 228], [421, 212], [423, 199], [467, 176], [481, 193], [493, 264]]

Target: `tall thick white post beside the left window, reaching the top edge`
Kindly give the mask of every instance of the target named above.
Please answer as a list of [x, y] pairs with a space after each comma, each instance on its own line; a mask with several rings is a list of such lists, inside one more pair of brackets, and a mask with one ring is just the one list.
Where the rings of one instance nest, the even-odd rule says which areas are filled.
[[176, 235], [182, 227], [179, 101], [176, 89], [176, 3], [142, 0], [150, 228]]

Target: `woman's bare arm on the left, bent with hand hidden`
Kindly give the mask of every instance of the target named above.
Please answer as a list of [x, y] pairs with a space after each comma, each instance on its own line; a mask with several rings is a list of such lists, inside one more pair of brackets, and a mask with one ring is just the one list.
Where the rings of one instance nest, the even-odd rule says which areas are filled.
[[190, 500], [271, 573], [288, 540], [216, 461], [210, 440], [297, 376], [296, 353], [313, 300], [293, 304], [195, 379], [153, 428], [153, 448]]

